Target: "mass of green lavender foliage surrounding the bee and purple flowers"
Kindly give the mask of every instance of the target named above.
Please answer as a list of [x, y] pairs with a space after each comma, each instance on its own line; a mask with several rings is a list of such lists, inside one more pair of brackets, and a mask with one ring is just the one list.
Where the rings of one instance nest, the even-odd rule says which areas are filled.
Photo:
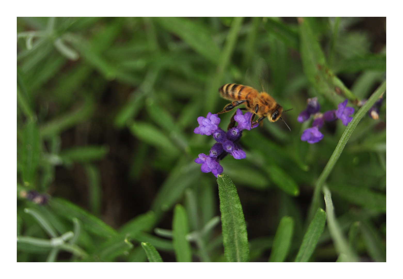
[[[379, 19], [17, 18], [17, 261], [386, 261], [386, 102], [326, 174], [326, 214], [325, 181], [314, 187], [346, 128], [308, 144], [297, 122], [314, 96], [321, 111], [347, 98], [357, 112], [385, 71]], [[225, 83], [293, 110], [291, 132], [244, 131], [246, 159], [222, 160], [237, 188], [219, 206], [194, 162], [214, 140], [193, 129], [227, 103]], [[124, 217], [118, 195], [135, 208]]]

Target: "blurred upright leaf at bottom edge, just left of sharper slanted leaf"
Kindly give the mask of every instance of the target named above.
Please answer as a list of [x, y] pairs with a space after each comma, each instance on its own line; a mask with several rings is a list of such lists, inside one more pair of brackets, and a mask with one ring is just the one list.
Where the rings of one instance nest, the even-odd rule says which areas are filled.
[[294, 220], [292, 217], [285, 216], [280, 220], [276, 235], [273, 240], [273, 248], [270, 253], [269, 262], [283, 262], [287, 257], [288, 250], [294, 232]]

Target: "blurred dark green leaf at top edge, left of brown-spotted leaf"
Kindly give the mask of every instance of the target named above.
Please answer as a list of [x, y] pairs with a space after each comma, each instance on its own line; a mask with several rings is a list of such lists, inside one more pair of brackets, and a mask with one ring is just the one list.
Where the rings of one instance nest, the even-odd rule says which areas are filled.
[[282, 41], [286, 46], [299, 50], [298, 32], [295, 28], [271, 19], [270, 17], [263, 19], [264, 28], [272, 33], [278, 40]]

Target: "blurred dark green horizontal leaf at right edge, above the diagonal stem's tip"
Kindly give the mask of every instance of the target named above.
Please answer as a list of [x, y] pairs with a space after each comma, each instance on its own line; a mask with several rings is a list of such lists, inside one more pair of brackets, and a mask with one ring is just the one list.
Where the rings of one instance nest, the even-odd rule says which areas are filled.
[[370, 54], [339, 62], [335, 72], [355, 73], [363, 70], [386, 71], [386, 54]]

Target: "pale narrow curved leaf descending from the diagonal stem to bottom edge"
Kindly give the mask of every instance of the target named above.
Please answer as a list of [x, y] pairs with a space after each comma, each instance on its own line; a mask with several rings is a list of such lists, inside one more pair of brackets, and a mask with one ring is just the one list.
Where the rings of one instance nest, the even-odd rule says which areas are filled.
[[[357, 262], [358, 258], [353, 251], [348, 246], [347, 240], [345, 239], [341, 228], [336, 220], [336, 215], [334, 214], [334, 207], [332, 203], [332, 195], [328, 187], [323, 187], [323, 193], [326, 203], [326, 219], [329, 227], [330, 236], [333, 239], [334, 248], [336, 248], [339, 254], [339, 260], [347, 262]], [[343, 254], [343, 256], [342, 256]]]

